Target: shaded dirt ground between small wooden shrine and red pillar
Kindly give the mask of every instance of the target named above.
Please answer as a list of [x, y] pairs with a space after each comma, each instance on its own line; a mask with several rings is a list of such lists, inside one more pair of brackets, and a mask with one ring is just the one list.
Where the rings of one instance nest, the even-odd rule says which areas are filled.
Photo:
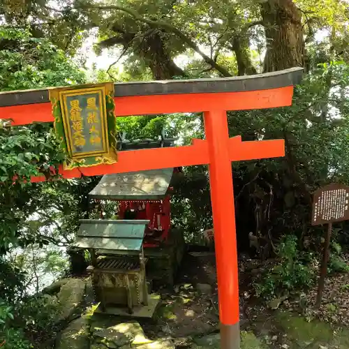
[[[218, 332], [217, 290], [214, 252], [186, 253], [174, 289], [157, 291], [162, 302], [156, 324], [146, 325], [144, 330], [151, 338], [172, 336], [179, 341]], [[240, 316], [245, 318], [243, 309]]]

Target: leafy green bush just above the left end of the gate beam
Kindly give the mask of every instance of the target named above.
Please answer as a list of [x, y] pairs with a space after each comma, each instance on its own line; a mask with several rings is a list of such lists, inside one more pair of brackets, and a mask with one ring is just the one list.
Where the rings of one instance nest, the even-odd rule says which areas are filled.
[[0, 90], [34, 89], [84, 82], [64, 51], [26, 29], [0, 26]]

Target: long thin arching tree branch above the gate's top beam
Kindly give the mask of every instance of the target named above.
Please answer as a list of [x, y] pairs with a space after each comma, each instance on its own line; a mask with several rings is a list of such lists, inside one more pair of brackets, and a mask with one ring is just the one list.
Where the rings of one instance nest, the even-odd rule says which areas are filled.
[[181, 40], [184, 41], [191, 49], [193, 49], [195, 52], [200, 54], [202, 59], [209, 64], [210, 66], [213, 66], [216, 70], [218, 70], [219, 73], [221, 73], [225, 77], [230, 77], [232, 74], [229, 73], [227, 69], [225, 69], [223, 66], [217, 64], [213, 59], [211, 59], [207, 54], [202, 52], [200, 50], [200, 47], [196, 45], [196, 43], [191, 40], [186, 34], [184, 34], [182, 31], [174, 27], [172, 24], [168, 22], [163, 22], [163, 21], [154, 21], [154, 20], [147, 20], [147, 18], [142, 17], [137, 11], [131, 10], [130, 8], [124, 8], [123, 6], [119, 5], [110, 5], [110, 6], [84, 6], [80, 5], [80, 8], [92, 8], [95, 10], [120, 10], [123, 11], [124, 13], [128, 13], [128, 15], [131, 15], [135, 20], [138, 20], [140, 22], [149, 24], [150, 27], [156, 27], [156, 28], [163, 28], [167, 31], [170, 31], [172, 34], [177, 35]]

